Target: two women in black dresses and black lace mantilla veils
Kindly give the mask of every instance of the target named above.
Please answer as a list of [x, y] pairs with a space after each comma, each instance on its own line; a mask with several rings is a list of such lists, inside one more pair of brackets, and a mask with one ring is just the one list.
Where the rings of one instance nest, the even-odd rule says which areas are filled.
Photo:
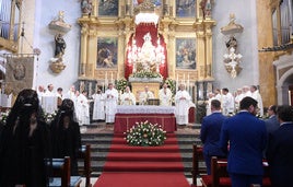
[[1, 187], [48, 186], [55, 157], [70, 156], [71, 175], [78, 175], [81, 133], [79, 124], [73, 119], [74, 103], [70, 98], [62, 100], [57, 115], [48, 124], [38, 96], [34, 90], [22, 90], [7, 121], [1, 124]]

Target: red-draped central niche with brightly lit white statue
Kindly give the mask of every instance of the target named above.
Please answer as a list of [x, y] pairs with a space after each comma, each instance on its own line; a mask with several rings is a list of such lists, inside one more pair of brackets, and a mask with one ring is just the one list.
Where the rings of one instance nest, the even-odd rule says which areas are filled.
[[[157, 33], [157, 24], [140, 23], [128, 42], [125, 62], [125, 78], [133, 71], [160, 72], [164, 79], [167, 74], [167, 51], [164, 37]], [[157, 67], [155, 67], [157, 66]]]

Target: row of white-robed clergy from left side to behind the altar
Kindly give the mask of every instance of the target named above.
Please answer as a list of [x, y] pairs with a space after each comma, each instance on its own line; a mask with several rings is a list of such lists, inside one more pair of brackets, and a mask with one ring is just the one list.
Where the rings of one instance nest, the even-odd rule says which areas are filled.
[[[72, 100], [75, 108], [74, 116], [80, 126], [90, 125], [90, 121], [98, 120], [113, 124], [118, 105], [148, 105], [150, 100], [155, 98], [149, 86], [142, 87], [137, 101], [137, 96], [131, 92], [130, 86], [126, 86], [122, 92], [118, 92], [114, 83], [108, 83], [104, 92], [103, 87], [97, 86], [96, 92], [92, 95], [87, 95], [86, 91], [80, 93], [74, 85], [65, 94], [61, 87], [54, 92], [52, 84], [49, 84], [46, 91], [44, 86], [38, 86], [37, 93], [39, 101], [42, 101], [42, 107], [46, 113], [52, 113], [57, 109], [57, 106], [52, 108], [54, 102], [50, 100], [56, 98], [58, 105], [65, 98]], [[159, 91], [157, 100], [160, 101], [160, 106], [172, 106], [175, 103], [177, 125], [188, 125], [188, 109], [195, 104], [191, 102], [191, 96], [186, 91], [185, 84], [180, 84], [175, 96], [173, 96], [171, 89], [166, 83], [163, 83]], [[92, 120], [90, 120], [91, 102], [93, 103]]]

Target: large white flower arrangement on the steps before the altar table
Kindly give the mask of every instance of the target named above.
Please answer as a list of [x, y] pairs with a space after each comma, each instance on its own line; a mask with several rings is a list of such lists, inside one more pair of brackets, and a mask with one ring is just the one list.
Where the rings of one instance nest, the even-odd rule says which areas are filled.
[[151, 124], [149, 121], [136, 122], [137, 126], [131, 127], [125, 132], [126, 141], [130, 145], [137, 147], [157, 147], [166, 140], [166, 131], [162, 126]]

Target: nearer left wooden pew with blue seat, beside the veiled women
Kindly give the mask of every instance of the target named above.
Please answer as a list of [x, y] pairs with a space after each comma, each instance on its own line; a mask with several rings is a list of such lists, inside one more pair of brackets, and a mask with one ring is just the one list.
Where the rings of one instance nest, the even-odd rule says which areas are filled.
[[[47, 166], [50, 166], [47, 160]], [[49, 177], [49, 187], [80, 187], [81, 177], [70, 175], [70, 157], [52, 159], [52, 176]]]

